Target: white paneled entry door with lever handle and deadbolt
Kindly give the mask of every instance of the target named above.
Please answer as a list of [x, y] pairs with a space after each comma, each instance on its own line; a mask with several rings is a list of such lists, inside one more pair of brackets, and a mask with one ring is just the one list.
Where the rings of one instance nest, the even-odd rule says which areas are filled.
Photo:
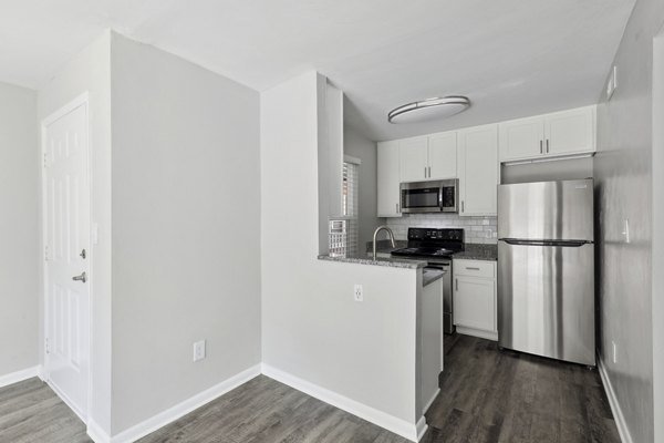
[[46, 377], [53, 390], [85, 419], [90, 368], [87, 105], [49, 123], [43, 135]]

